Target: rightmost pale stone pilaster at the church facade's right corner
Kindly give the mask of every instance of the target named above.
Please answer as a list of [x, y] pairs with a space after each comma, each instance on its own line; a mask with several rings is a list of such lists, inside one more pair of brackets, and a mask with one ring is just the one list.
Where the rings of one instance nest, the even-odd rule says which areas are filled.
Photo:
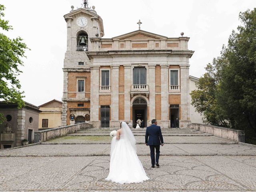
[[180, 127], [186, 127], [190, 123], [188, 119], [188, 103], [189, 103], [189, 85], [188, 85], [188, 68], [187, 65], [180, 66], [180, 102], [181, 102], [181, 117]]

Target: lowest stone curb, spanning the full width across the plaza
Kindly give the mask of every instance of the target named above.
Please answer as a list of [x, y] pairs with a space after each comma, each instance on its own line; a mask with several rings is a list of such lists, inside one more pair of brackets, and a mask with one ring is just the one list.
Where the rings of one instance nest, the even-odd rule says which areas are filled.
[[[147, 154], [137, 154], [138, 156], [150, 156], [150, 153]], [[110, 156], [110, 154], [17, 154], [17, 155], [2, 155], [3, 157], [92, 157], [92, 156]], [[170, 153], [170, 154], [160, 154], [160, 156], [256, 156], [256, 153], [249, 154], [232, 154], [232, 153]]]

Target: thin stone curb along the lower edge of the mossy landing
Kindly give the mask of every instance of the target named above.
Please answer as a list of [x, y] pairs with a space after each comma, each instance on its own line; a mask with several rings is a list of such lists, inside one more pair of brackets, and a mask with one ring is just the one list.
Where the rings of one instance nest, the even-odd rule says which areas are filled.
[[[108, 145], [108, 144], [111, 144], [111, 142], [109, 142], [109, 143], [106, 143], [106, 142], [104, 142], [104, 143], [40, 143], [40, 144], [42, 144], [42, 145], [92, 145], [92, 144], [106, 144], [106, 145]], [[145, 144], [145, 143], [142, 143], [142, 142], [138, 142], [138, 143], [136, 143], [136, 145], [138, 145], [138, 144]], [[238, 144], [238, 142], [229, 142], [229, 143], [227, 143], [227, 142], [223, 142], [223, 143], [218, 143], [218, 142], [207, 142], [207, 143], [186, 143], [186, 142], [180, 142], [180, 143], [170, 143], [170, 142], [168, 142], [168, 143], [164, 143], [164, 144], [220, 144], [220, 145], [232, 145], [232, 144]]]

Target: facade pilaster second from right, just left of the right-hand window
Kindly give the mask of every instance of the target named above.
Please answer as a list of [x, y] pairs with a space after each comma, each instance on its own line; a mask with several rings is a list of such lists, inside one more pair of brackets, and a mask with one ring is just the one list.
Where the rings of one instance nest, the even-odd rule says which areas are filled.
[[160, 126], [168, 128], [169, 95], [168, 95], [168, 64], [161, 65], [161, 121]]

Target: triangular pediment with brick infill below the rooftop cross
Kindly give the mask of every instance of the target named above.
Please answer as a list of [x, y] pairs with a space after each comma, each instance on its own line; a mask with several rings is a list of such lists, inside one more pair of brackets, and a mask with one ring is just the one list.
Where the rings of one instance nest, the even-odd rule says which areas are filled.
[[158, 35], [158, 34], [154, 34], [154, 33], [150, 33], [147, 31], [143, 31], [143, 30], [137, 30], [137, 31], [123, 34], [123, 35], [120, 35], [117, 37], [113, 37], [112, 39], [113, 40], [125, 40], [125, 39], [129, 39], [129, 40], [149, 40], [149, 39], [161, 40], [161, 39], [167, 39], [167, 37]]

